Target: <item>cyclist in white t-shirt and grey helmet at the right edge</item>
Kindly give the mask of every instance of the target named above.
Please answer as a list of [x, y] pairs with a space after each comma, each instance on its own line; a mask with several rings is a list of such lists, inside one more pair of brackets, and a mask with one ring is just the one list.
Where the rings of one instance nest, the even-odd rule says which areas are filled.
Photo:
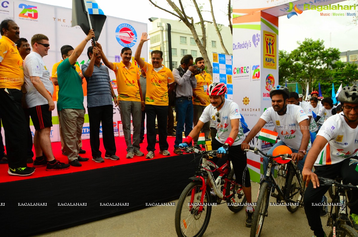
[[[344, 87], [338, 95], [343, 112], [329, 117], [319, 130], [315, 142], [307, 156], [302, 175], [306, 181], [304, 208], [306, 217], [315, 236], [325, 236], [319, 217], [322, 196], [330, 186], [320, 186], [318, 177], [343, 178], [344, 183], [358, 185], [358, 87]], [[312, 167], [315, 166], [315, 172]], [[310, 182], [312, 181], [312, 182]], [[350, 220], [358, 231], [358, 192], [353, 190], [349, 196]]]

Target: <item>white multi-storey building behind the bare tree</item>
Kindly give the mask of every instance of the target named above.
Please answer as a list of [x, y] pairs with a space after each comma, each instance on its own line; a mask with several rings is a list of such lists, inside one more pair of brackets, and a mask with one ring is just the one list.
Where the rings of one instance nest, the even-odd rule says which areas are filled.
[[[179, 21], [179, 19], [150, 19], [152, 20], [153, 30], [149, 31], [149, 53], [153, 50], [163, 51], [163, 64], [167, 68], [177, 68], [180, 65], [180, 60], [186, 54], [191, 54], [194, 61], [195, 58], [202, 56], [190, 29], [182, 21]], [[223, 38], [224, 45], [229, 54], [232, 55], [232, 35], [230, 28], [219, 24], [218, 26], [221, 28], [221, 36]], [[200, 24], [195, 25], [195, 29], [199, 39], [202, 40], [203, 35]], [[205, 22], [205, 30], [207, 52], [209, 59], [212, 61], [212, 53], [224, 54], [224, 50], [221, 47], [219, 36], [216, 33], [214, 25], [212, 23]], [[173, 68], [170, 67], [170, 56]], [[151, 58], [150, 55], [149, 58]]]

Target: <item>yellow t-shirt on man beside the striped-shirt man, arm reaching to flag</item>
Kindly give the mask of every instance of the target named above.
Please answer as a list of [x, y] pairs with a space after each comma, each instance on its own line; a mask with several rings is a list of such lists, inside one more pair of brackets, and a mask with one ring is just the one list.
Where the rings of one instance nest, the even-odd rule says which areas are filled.
[[140, 102], [139, 68], [132, 63], [129, 68], [126, 68], [126, 65], [121, 61], [120, 63], [113, 63], [113, 71], [116, 73], [117, 99]]

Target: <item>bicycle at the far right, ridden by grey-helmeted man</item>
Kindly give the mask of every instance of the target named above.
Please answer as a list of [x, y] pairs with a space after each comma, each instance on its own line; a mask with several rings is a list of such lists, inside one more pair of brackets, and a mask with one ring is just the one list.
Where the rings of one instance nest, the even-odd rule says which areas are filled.
[[[352, 184], [343, 184], [342, 178], [337, 177], [336, 180], [318, 177], [321, 186], [331, 186], [335, 190], [334, 197], [332, 198], [332, 205], [328, 213], [326, 226], [332, 227], [328, 236], [331, 237], [358, 237], [358, 233], [352, 227], [352, 223], [347, 216], [347, 207], [350, 204], [347, 202], [346, 192], [352, 189], [357, 189], [358, 186]], [[357, 202], [357, 201], [355, 201]], [[334, 213], [333, 212], [334, 209]]]

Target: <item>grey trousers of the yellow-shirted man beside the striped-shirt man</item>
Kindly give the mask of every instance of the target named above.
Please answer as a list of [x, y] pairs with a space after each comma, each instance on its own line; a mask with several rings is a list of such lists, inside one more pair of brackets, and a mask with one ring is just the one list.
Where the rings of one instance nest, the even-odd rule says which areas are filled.
[[[139, 150], [140, 122], [142, 118], [141, 102], [119, 100], [121, 120], [127, 152]], [[131, 115], [133, 124], [133, 142], [131, 140]]]

